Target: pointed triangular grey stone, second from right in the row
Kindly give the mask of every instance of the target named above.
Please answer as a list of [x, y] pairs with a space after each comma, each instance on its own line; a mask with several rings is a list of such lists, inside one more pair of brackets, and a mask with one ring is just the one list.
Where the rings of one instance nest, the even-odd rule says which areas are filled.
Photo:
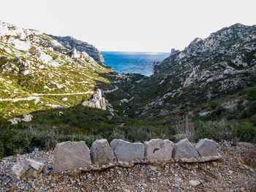
[[197, 158], [199, 154], [187, 138], [180, 140], [173, 148], [173, 158]]

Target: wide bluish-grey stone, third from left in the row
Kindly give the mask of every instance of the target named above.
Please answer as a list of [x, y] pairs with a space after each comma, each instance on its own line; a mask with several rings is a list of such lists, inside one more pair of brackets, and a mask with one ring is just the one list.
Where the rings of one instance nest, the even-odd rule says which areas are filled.
[[144, 159], [144, 145], [141, 142], [126, 142], [122, 139], [113, 139], [110, 146], [118, 161], [133, 161]]

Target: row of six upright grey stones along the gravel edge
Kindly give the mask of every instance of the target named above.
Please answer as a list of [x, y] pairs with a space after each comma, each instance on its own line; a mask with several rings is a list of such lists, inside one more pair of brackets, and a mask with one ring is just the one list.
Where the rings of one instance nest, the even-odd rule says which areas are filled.
[[126, 142], [113, 139], [108, 144], [106, 139], [97, 139], [91, 150], [83, 141], [61, 142], [54, 149], [53, 173], [70, 169], [95, 165], [111, 164], [116, 157], [118, 161], [170, 161], [171, 158], [200, 158], [219, 155], [214, 140], [200, 139], [193, 147], [188, 139], [182, 139], [176, 144], [170, 140], [151, 139], [149, 142]]

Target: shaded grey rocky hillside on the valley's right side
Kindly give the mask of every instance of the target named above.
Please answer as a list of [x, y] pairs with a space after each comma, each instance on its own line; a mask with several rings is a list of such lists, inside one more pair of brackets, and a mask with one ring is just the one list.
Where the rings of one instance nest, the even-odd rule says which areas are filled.
[[222, 28], [154, 63], [154, 74], [126, 91], [127, 99], [133, 98], [126, 112], [150, 117], [195, 110], [198, 104], [255, 85], [255, 70], [256, 26]]

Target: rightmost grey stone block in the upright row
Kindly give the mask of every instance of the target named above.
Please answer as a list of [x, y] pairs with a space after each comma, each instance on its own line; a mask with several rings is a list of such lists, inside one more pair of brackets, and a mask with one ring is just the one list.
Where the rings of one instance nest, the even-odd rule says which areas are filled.
[[200, 156], [218, 155], [216, 142], [211, 139], [200, 139], [197, 145], [195, 145], [195, 150], [197, 150]]

